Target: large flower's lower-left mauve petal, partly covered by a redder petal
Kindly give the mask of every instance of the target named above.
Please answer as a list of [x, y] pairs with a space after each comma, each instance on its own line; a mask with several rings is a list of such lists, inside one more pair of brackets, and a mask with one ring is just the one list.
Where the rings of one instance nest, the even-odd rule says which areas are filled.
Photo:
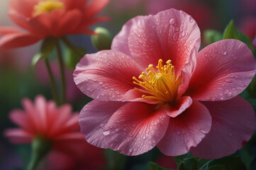
[[103, 128], [109, 118], [126, 102], [91, 101], [82, 109], [79, 115], [81, 132], [91, 145], [107, 148]]

